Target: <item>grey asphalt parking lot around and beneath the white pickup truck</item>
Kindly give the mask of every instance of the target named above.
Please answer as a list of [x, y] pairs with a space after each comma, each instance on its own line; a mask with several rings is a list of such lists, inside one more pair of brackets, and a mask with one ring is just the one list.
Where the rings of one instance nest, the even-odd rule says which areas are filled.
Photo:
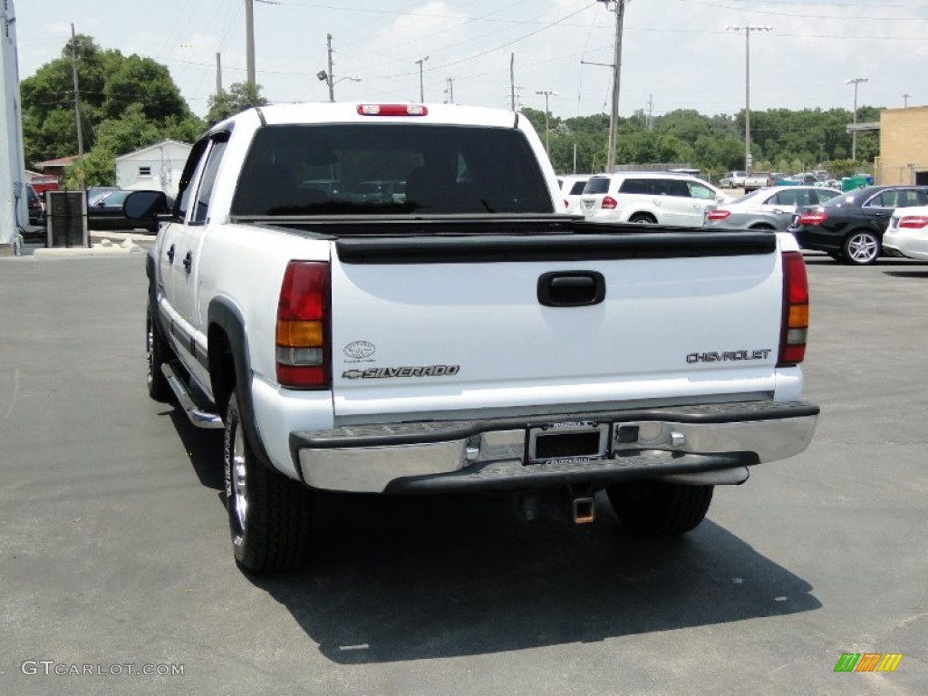
[[686, 538], [324, 496], [255, 578], [221, 434], [146, 394], [144, 254], [0, 259], [0, 693], [928, 693], [928, 264], [806, 260], [816, 437]]

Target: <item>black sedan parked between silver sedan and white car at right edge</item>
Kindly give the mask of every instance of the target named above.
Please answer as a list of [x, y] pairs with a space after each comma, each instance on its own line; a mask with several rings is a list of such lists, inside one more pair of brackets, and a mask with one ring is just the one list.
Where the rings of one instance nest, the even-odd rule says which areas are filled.
[[848, 264], [872, 264], [883, 252], [883, 232], [896, 208], [928, 204], [928, 187], [857, 188], [796, 211], [793, 233], [803, 249], [826, 251]]

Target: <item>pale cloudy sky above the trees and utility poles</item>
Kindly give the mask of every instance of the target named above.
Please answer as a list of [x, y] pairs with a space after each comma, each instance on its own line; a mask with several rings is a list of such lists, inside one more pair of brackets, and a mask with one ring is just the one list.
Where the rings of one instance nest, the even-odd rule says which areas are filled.
[[[335, 97], [610, 110], [614, 4], [595, 0], [254, 0], [257, 81], [272, 102]], [[154, 58], [202, 115], [222, 56], [227, 86], [246, 77], [245, 0], [15, 0], [19, 74], [57, 58], [71, 35]], [[928, 0], [627, 0], [619, 111], [928, 105]], [[740, 26], [741, 31], [727, 27]], [[510, 81], [510, 60], [514, 79]], [[359, 80], [359, 82], [355, 82]], [[904, 97], [904, 95], [910, 97]]]

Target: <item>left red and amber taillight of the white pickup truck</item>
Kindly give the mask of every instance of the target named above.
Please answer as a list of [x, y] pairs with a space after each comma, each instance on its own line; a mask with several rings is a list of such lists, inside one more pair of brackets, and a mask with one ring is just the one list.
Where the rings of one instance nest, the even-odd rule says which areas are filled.
[[329, 264], [287, 264], [277, 303], [277, 382], [328, 389], [331, 379]]

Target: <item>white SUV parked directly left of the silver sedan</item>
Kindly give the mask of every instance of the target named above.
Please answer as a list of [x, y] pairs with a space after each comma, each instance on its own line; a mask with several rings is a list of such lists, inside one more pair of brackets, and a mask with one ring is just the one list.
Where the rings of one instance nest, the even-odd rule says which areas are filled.
[[586, 182], [579, 212], [591, 222], [700, 227], [707, 208], [728, 200], [690, 174], [596, 174]]

